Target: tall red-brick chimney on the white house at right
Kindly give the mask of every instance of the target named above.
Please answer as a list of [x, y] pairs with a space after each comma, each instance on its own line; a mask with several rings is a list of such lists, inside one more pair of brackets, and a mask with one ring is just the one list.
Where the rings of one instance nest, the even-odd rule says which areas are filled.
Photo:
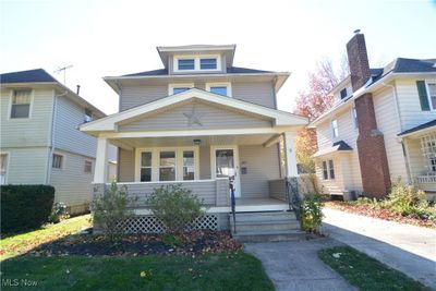
[[[355, 34], [347, 44], [347, 54], [350, 65], [351, 85], [358, 90], [371, 77], [370, 62], [366, 52], [365, 37]], [[361, 166], [363, 194], [382, 198], [390, 189], [388, 159], [385, 140], [377, 129], [373, 95], [364, 94], [354, 100], [358, 112], [358, 153]]]

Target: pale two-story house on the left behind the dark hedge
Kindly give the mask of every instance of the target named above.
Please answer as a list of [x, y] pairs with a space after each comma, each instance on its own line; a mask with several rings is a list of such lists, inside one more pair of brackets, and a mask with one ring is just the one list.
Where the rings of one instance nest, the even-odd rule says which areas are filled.
[[86, 211], [97, 142], [78, 125], [105, 113], [41, 69], [1, 74], [0, 83], [1, 184], [50, 184], [56, 202]]

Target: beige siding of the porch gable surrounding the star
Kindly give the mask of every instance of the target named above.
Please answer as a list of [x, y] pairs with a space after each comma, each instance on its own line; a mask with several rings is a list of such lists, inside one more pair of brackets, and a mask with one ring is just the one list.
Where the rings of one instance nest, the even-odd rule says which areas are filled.
[[[186, 113], [191, 114], [193, 107], [199, 124], [189, 124]], [[161, 131], [161, 130], [192, 130], [192, 129], [238, 129], [238, 128], [271, 128], [271, 122], [243, 114], [228, 109], [193, 102], [179, 106], [165, 112], [120, 125], [119, 131]]]

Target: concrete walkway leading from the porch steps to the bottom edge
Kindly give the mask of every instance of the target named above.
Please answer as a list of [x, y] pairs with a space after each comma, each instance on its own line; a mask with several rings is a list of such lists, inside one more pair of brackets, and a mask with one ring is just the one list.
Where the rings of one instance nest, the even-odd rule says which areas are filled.
[[341, 245], [331, 239], [246, 243], [245, 251], [262, 260], [277, 291], [356, 290], [317, 256], [322, 248]]

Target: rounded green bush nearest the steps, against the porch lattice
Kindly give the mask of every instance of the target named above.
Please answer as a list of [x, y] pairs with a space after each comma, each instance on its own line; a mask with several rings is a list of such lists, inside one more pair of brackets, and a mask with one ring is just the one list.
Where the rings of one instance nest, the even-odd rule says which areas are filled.
[[170, 233], [185, 231], [203, 214], [202, 201], [181, 184], [155, 189], [147, 199], [147, 206]]

